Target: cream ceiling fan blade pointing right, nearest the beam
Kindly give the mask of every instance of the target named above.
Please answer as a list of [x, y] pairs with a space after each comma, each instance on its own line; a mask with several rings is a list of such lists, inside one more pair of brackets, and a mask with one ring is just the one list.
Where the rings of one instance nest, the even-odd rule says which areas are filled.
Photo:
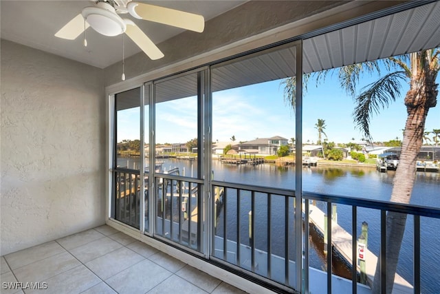
[[199, 14], [136, 2], [129, 2], [127, 9], [133, 17], [146, 21], [172, 25], [195, 32], [203, 32], [205, 28], [205, 19]]

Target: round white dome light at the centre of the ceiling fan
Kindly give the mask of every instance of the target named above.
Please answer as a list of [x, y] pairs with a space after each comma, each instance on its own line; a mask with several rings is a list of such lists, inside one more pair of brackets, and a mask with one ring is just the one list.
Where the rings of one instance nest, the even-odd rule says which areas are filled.
[[126, 30], [125, 22], [107, 3], [100, 2], [97, 6], [86, 7], [82, 14], [91, 28], [104, 36], [117, 36]]

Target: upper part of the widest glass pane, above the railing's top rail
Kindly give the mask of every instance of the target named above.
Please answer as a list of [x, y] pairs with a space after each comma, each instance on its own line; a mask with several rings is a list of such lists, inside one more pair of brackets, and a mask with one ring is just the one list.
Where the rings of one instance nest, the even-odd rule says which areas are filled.
[[283, 83], [295, 65], [291, 47], [212, 70], [214, 180], [295, 188], [295, 114]]

